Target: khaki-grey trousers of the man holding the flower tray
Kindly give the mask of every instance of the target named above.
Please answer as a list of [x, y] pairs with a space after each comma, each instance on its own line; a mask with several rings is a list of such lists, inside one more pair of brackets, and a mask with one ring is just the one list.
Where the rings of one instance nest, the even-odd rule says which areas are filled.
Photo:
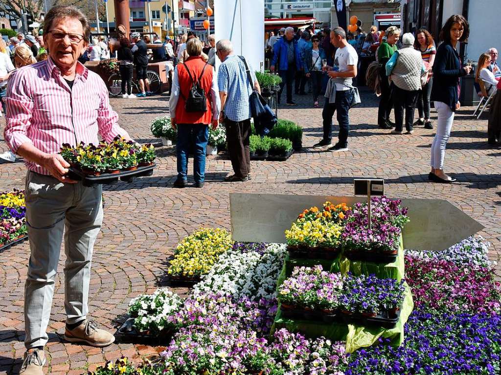
[[86, 318], [91, 259], [103, 221], [102, 187], [63, 184], [28, 171], [26, 221], [30, 261], [25, 286], [25, 346], [47, 343], [61, 242], [65, 240], [65, 309], [67, 323]]

